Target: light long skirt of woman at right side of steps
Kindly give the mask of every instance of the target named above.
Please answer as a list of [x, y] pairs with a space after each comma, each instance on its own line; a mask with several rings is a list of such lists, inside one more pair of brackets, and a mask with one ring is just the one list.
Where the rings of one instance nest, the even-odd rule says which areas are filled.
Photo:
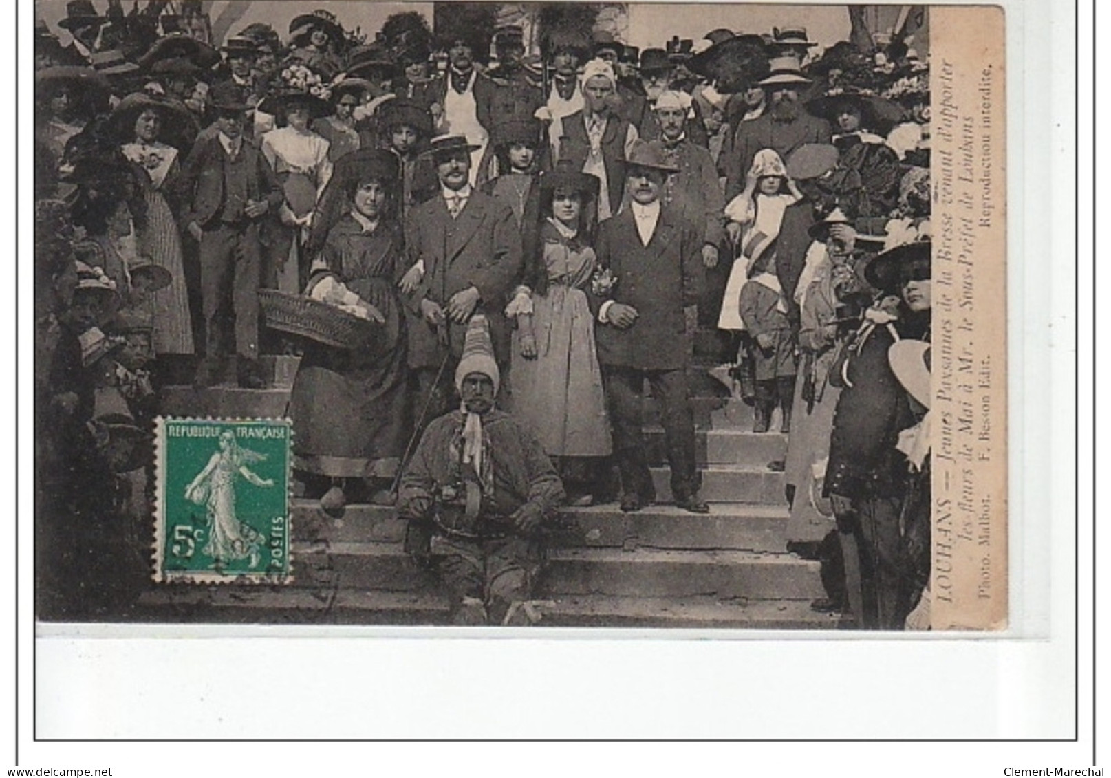
[[787, 446], [787, 482], [794, 486], [794, 502], [787, 525], [789, 541], [820, 541], [834, 527], [829, 500], [822, 497], [829, 459], [833, 411], [841, 390], [825, 386], [812, 408], [802, 399], [804, 381], [794, 383], [791, 436]]

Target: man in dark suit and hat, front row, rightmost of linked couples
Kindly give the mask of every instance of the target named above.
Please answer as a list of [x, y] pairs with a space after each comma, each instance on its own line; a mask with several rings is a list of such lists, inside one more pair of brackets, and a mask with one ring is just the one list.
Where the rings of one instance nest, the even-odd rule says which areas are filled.
[[628, 158], [629, 206], [598, 230], [598, 261], [604, 273], [589, 289], [598, 361], [613, 423], [613, 456], [621, 472], [621, 510], [655, 499], [644, 458], [641, 403], [644, 379], [663, 405], [663, 430], [675, 505], [709, 512], [698, 496], [694, 417], [687, 388], [688, 336], [702, 287], [704, 228], [670, 207], [660, 194], [670, 167], [658, 143], [639, 141]]

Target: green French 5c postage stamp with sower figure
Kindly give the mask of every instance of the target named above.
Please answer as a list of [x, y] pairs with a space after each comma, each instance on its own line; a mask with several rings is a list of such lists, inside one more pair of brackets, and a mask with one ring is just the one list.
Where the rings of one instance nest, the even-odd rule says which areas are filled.
[[156, 580], [291, 579], [291, 435], [288, 419], [158, 419]]

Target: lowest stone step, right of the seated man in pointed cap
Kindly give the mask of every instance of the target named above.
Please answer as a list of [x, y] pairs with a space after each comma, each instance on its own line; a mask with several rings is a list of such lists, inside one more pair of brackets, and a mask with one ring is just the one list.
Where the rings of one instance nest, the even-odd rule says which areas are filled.
[[562, 596], [540, 606], [541, 627], [664, 627], [685, 629], [838, 629], [835, 614], [818, 614], [809, 600], [720, 600]]

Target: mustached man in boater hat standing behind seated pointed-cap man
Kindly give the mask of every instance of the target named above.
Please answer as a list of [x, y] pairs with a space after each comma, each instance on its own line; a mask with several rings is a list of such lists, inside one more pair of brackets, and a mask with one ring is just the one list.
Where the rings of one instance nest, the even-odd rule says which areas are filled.
[[454, 366], [476, 312], [490, 322], [498, 361], [509, 359], [502, 310], [521, 275], [521, 233], [509, 206], [471, 187], [473, 150], [462, 136], [432, 140], [426, 153], [436, 163], [440, 193], [416, 206], [406, 226], [412, 263], [402, 281], [413, 316], [409, 366], [417, 373], [418, 412], [427, 408], [426, 419], [449, 408]]

